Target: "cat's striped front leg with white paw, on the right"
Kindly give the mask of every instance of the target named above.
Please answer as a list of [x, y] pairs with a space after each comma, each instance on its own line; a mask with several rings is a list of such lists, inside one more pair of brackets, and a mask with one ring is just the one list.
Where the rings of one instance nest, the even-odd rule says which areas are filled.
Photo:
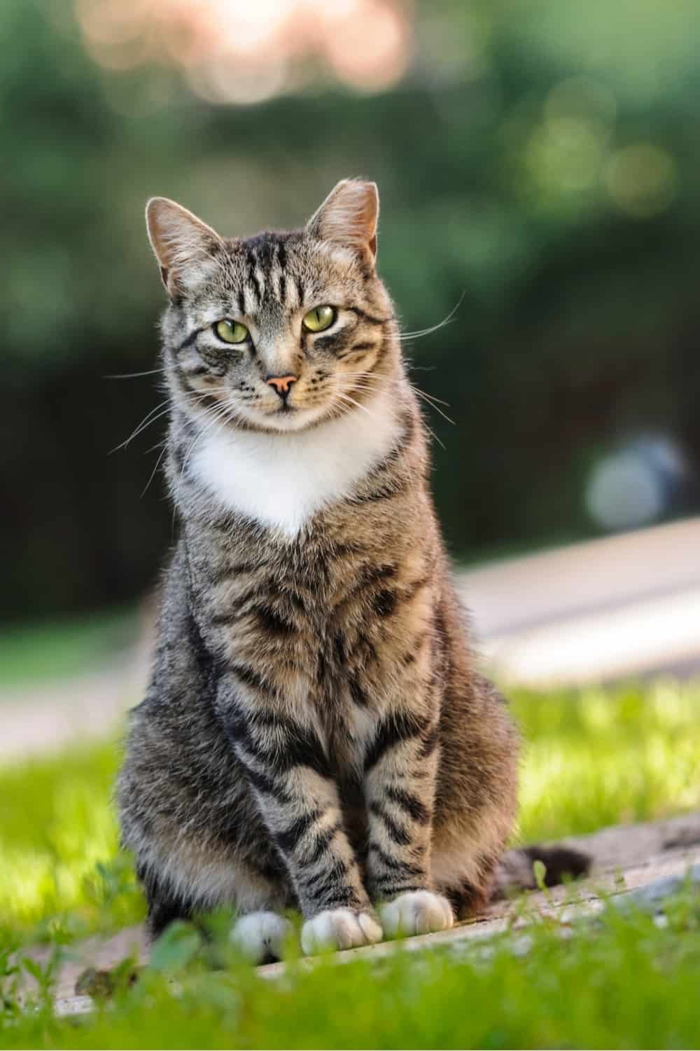
[[426, 934], [454, 922], [430, 881], [438, 769], [437, 720], [398, 706], [378, 723], [365, 753], [369, 842], [367, 887], [384, 933]]

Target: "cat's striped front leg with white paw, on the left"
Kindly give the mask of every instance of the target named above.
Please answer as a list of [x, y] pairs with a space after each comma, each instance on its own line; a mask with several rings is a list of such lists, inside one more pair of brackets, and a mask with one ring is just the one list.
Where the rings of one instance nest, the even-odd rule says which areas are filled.
[[379, 942], [382, 929], [314, 727], [250, 671], [232, 671], [220, 680], [217, 709], [294, 884], [305, 921], [304, 952]]

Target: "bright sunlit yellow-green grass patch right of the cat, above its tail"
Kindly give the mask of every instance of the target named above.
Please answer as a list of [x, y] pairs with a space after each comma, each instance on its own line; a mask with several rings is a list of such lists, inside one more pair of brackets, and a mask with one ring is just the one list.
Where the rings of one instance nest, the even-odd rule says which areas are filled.
[[592, 832], [700, 807], [700, 688], [516, 693], [525, 737], [521, 836]]

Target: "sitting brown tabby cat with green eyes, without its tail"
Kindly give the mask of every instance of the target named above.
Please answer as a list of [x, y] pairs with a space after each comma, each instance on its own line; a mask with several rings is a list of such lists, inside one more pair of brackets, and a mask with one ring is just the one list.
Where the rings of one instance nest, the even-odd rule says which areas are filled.
[[489, 895], [518, 741], [450, 582], [377, 188], [248, 240], [146, 217], [182, 520], [118, 788], [151, 931], [233, 905], [261, 960], [289, 907], [304, 952], [444, 930]]

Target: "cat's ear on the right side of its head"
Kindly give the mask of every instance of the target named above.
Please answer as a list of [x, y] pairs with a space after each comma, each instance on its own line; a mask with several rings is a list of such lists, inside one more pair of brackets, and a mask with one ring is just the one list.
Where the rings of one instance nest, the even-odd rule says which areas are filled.
[[343, 179], [306, 224], [306, 230], [319, 241], [344, 245], [377, 255], [379, 191], [376, 183]]

